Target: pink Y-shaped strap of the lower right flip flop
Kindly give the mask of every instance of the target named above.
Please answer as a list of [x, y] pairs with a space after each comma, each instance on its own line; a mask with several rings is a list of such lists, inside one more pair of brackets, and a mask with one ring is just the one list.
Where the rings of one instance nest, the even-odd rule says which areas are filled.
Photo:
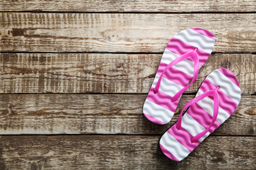
[[206, 130], [203, 130], [203, 132], [201, 132], [198, 135], [192, 137], [191, 138], [191, 142], [196, 142], [201, 137], [203, 137], [203, 135], [205, 135], [210, 130], [210, 128], [213, 126], [213, 124], [215, 123], [215, 121], [217, 119], [217, 116], [218, 116], [218, 108], [219, 108], [218, 89], [220, 89], [219, 86], [217, 86], [217, 88], [215, 90], [206, 91], [206, 93], [201, 94], [201, 95], [193, 98], [191, 101], [188, 101], [188, 103], [186, 103], [186, 105], [182, 109], [180, 115], [178, 116], [178, 121], [176, 123], [176, 128], [178, 130], [180, 130], [181, 129], [181, 120], [182, 120], [182, 113], [183, 113], [183, 111], [185, 111], [185, 109], [188, 108], [189, 106], [191, 106], [193, 103], [201, 101], [203, 98], [206, 98], [207, 96], [210, 96], [210, 95], [213, 96], [213, 98], [214, 98], [213, 99], [213, 101], [214, 101], [214, 105], [213, 105], [213, 120], [211, 121], [211, 123], [208, 126], [208, 128], [206, 128]]

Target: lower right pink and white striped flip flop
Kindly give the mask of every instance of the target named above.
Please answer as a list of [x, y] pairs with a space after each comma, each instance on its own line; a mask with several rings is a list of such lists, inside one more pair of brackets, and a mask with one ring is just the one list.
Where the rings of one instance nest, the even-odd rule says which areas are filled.
[[177, 162], [187, 157], [233, 114], [240, 98], [235, 75], [228, 69], [215, 69], [203, 81], [196, 97], [186, 103], [178, 121], [161, 137], [162, 152]]

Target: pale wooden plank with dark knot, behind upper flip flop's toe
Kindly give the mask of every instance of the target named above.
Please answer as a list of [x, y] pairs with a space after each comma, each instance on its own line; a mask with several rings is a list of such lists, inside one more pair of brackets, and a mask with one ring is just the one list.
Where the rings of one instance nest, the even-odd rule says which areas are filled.
[[214, 52], [256, 52], [256, 13], [0, 13], [1, 52], [163, 52], [186, 28]]

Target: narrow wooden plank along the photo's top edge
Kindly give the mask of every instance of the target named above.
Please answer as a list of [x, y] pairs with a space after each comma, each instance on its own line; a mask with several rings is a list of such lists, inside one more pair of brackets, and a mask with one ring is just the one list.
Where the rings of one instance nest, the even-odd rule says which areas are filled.
[[256, 2], [252, 0], [75, 0], [75, 1], [30, 1], [2, 0], [0, 11], [70, 11], [70, 12], [255, 12]]

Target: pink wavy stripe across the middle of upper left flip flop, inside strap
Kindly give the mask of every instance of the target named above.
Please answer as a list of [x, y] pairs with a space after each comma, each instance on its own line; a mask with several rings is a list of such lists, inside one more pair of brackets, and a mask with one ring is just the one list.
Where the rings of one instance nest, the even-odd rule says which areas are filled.
[[[161, 75], [161, 73], [164, 71], [168, 64], [164, 62], [160, 62], [159, 69], [157, 70], [156, 74]], [[175, 69], [174, 67], [171, 67], [168, 69], [164, 75], [164, 78], [169, 79], [170, 81], [173, 81], [176, 84], [179, 84], [181, 86], [186, 86], [188, 84], [188, 81], [192, 79], [192, 77], [184, 72], [181, 72], [178, 69]]]

